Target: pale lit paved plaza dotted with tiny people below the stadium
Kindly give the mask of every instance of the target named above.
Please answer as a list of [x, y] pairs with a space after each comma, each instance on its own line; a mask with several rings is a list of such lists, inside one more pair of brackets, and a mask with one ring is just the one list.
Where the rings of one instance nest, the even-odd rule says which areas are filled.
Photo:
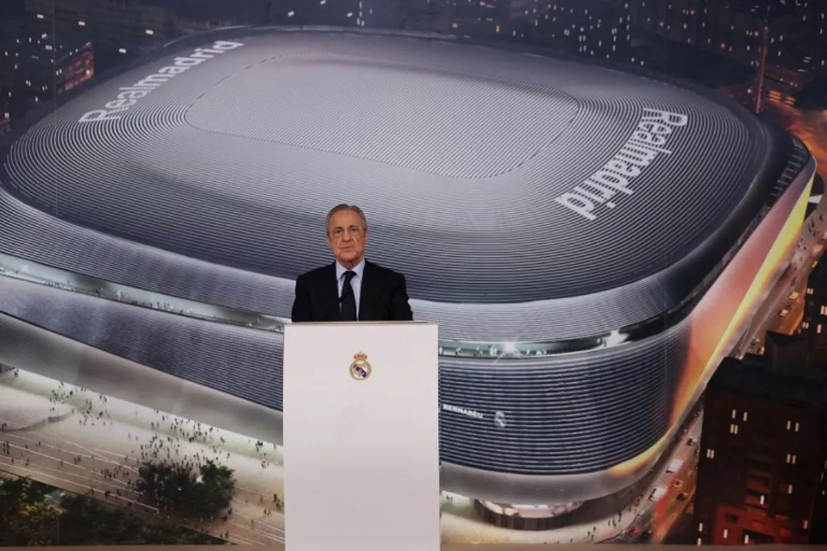
[[[135, 511], [157, 513], [134, 489], [146, 460], [213, 459], [232, 468], [237, 493], [232, 515], [186, 519], [195, 530], [234, 544], [284, 541], [284, 487], [280, 448], [193, 420], [152, 411], [47, 378], [12, 372], [0, 375], [0, 468], [69, 492], [86, 494]], [[444, 543], [588, 543], [626, 529], [652, 503], [643, 499], [657, 483], [650, 476], [636, 487], [586, 503], [575, 525], [558, 530], [506, 530], [480, 520], [465, 496], [442, 496]], [[276, 501], [278, 500], [278, 501]]]

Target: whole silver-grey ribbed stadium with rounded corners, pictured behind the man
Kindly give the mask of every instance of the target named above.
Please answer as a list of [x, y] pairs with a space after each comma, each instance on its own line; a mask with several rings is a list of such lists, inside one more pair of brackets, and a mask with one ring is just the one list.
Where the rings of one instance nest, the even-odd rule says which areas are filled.
[[55, 368], [22, 337], [0, 361], [180, 415], [220, 411], [214, 391], [280, 411], [282, 335], [261, 329], [353, 202], [370, 259], [440, 325], [444, 486], [523, 504], [646, 473], [786, 268], [815, 173], [703, 90], [329, 29], [175, 42], [2, 154], [0, 311], [194, 385], [119, 384], [94, 354]]

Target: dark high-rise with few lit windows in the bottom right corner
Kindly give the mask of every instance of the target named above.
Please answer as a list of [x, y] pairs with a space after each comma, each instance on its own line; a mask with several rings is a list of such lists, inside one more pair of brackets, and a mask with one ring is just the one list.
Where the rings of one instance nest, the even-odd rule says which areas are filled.
[[806, 342], [767, 334], [765, 354], [724, 359], [706, 388], [698, 544], [810, 544], [825, 520], [827, 372]]

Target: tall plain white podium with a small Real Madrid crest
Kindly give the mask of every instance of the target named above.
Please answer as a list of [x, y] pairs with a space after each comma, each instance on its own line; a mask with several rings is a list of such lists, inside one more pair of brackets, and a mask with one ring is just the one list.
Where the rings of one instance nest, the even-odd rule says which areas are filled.
[[437, 551], [437, 325], [284, 329], [286, 551]]

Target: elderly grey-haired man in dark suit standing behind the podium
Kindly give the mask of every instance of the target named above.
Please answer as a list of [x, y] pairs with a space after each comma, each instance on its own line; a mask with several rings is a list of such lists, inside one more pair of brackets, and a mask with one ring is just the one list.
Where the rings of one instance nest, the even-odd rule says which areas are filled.
[[411, 321], [405, 278], [365, 259], [365, 213], [337, 205], [327, 213], [332, 264], [296, 279], [293, 321]]

